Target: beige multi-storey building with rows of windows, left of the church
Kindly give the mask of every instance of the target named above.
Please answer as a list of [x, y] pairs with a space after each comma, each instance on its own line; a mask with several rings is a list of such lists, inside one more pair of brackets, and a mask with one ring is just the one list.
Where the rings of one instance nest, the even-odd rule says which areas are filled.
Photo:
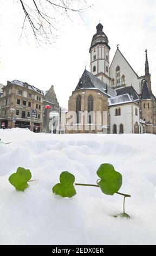
[[42, 131], [43, 92], [18, 80], [7, 82], [0, 97], [0, 127]]

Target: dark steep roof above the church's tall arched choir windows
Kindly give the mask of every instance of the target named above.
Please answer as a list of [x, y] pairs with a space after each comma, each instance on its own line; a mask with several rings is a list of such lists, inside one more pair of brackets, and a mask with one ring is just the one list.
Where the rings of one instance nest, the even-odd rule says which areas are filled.
[[106, 83], [101, 81], [98, 77], [94, 76], [92, 73], [87, 71], [83, 72], [83, 75], [80, 78], [79, 83], [77, 84], [75, 90], [80, 89], [98, 89], [102, 93], [105, 93], [109, 97], [116, 96], [116, 92], [113, 88], [109, 87]]

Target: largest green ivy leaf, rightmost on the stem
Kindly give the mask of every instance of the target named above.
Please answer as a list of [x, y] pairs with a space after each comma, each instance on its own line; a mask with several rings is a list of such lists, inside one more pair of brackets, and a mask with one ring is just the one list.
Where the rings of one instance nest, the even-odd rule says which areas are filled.
[[97, 174], [101, 179], [98, 182], [102, 192], [113, 196], [122, 186], [122, 175], [115, 171], [112, 164], [104, 163], [99, 167]]

